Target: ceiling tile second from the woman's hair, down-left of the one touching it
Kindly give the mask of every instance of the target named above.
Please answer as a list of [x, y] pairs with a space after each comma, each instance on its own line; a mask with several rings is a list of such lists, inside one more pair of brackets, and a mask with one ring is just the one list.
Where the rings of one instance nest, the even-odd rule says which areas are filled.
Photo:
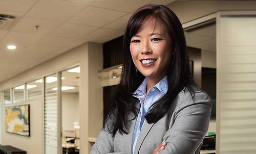
[[86, 25], [64, 23], [50, 35], [70, 38], [81, 38], [98, 28], [89, 27]]

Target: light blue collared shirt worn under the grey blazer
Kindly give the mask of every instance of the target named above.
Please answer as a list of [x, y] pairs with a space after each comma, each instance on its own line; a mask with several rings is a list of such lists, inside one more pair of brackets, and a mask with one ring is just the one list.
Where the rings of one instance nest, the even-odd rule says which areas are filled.
[[[135, 145], [139, 137], [141, 127], [145, 121], [144, 115], [148, 112], [148, 109], [156, 102], [161, 96], [165, 95], [168, 90], [167, 76], [164, 76], [154, 87], [148, 90], [146, 95], [147, 79], [145, 78], [139, 88], [133, 93], [134, 97], [140, 100], [140, 111], [137, 116], [134, 133], [133, 133], [133, 144], [132, 153], [134, 153]], [[142, 116], [141, 116], [142, 115]]]

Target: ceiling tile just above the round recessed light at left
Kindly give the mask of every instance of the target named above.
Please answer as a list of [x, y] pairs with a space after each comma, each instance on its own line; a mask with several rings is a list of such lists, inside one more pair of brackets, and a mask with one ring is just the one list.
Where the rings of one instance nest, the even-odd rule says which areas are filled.
[[2, 40], [6, 45], [16, 45], [17, 48], [26, 47], [36, 43], [43, 35], [22, 32], [9, 32]]

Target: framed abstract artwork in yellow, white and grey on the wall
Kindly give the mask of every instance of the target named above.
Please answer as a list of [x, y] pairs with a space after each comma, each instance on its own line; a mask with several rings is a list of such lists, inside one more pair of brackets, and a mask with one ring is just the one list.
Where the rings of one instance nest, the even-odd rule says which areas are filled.
[[29, 105], [5, 108], [5, 131], [30, 136]]

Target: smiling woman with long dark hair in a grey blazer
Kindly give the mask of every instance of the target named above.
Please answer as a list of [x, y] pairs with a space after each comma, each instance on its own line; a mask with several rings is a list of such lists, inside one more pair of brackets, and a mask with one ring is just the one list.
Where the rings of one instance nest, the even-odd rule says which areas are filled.
[[178, 17], [147, 5], [130, 18], [123, 69], [94, 153], [199, 153], [211, 99], [196, 85]]

